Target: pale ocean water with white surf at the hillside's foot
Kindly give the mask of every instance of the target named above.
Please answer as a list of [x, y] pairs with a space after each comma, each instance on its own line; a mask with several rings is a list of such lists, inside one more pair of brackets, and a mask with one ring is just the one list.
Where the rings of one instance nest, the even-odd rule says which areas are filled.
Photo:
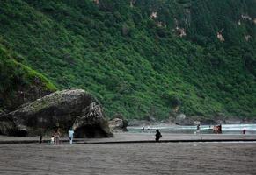
[[[128, 127], [128, 132], [155, 132], [160, 130], [163, 133], [179, 133], [179, 134], [194, 134], [196, 126], [180, 126], [180, 125], [150, 125], [143, 127]], [[213, 125], [201, 125], [201, 134], [212, 134]], [[243, 130], [246, 130], [246, 134], [256, 134], [256, 124], [222, 124], [223, 134], [242, 134]]]

